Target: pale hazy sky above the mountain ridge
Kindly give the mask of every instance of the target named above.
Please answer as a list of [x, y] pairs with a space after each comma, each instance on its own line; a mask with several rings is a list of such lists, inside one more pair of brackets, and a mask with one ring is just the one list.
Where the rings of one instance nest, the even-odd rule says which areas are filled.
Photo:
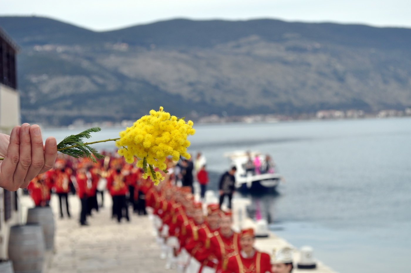
[[92, 30], [173, 18], [274, 18], [411, 28], [410, 14], [410, 0], [0, 0], [0, 15], [48, 16]]

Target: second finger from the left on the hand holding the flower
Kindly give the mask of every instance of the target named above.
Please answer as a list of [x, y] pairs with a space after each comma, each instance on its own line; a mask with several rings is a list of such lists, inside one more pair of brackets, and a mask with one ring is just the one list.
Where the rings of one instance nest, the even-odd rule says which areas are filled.
[[28, 168], [31, 165], [31, 139], [30, 139], [30, 124], [24, 123], [20, 128], [20, 149], [19, 158], [14, 171], [14, 185], [23, 185], [27, 175]]

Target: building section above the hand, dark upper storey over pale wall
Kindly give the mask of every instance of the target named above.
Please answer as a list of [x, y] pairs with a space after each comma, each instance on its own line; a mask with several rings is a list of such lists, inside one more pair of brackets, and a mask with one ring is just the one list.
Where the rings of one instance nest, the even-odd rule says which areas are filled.
[[9, 133], [20, 124], [20, 94], [17, 90], [18, 46], [0, 28], [0, 132]]

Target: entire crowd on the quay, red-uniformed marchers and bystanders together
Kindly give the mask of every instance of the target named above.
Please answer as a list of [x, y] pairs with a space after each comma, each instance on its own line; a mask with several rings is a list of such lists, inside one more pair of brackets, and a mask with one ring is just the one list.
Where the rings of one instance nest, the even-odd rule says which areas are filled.
[[[167, 260], [166, 268], [177, 268], [180, 273], [291, 272], [291, 249], [279, 249], [271, 257], [257, 251], [254, 231], [234, 232], [231, 211], [221, 210], [226, 195], [231, 208], [235, 167], [220, 179], [220, 204], [205, 206], [194, 201], [193, 195], [194, 176], [204, 185], [201, 200], [208, 183], [201, 154], [197, 155], [197, 164], [191, 160], [167, 162], [168, 173], [158, 186], [149, 178], [143, 179], [141, 170], [126, 164], [122, 157], [105, 155], [104, 160], [97, 163], [59, 155], [55, 167], [37, 176], [28, 186], [35, 205], [48, 206], [51, 194], [55, 193], [60, 217], [71, 217], [68, 195], [77, 194], [81, 200], [80, 224], [88, 225], [88, 215], [104, 206], [103, 193], [107, 190], [113, 199], [111, 215], [118, 222], [123, 218], [130, 220], [130, 207], [136, 214], [152, 215], [162, 249], [161, 258]], [[97, 198], [100, 195], [101, 198]]]

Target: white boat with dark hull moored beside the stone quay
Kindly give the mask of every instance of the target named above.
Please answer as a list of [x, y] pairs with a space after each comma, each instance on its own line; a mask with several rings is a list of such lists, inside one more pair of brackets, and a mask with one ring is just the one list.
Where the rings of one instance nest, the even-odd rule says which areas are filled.
[[258, 157], [260, 162], [265, 162], [266, 155], [259, 152], [245, 152], [237, 151], [224, 154], [231, 160], [231, 166], [236, 166], [237, 171], [234, 175], [236, 177], [236, 188], [242, 188], [244, 190], [266, 190], [275, 189], [280, 183], [282, 176], [277, 173], [275, 165], [272, 166], [268, 171], [261, 171], [255, 168], [254, 171], [247, 170], [247, 162], [249, 159], [254, 162], [254, 159]]

